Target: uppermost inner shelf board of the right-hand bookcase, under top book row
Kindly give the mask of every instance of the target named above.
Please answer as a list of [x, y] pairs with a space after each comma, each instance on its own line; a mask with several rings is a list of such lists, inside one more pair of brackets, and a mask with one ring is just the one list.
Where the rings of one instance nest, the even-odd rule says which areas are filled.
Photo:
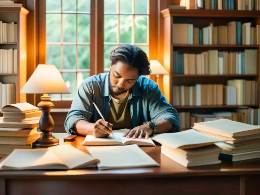
[[213, 47], [213, 48], [259, 48], [259, 45], [200, 45], [200, 44], [171, 44], [172, 47]]

